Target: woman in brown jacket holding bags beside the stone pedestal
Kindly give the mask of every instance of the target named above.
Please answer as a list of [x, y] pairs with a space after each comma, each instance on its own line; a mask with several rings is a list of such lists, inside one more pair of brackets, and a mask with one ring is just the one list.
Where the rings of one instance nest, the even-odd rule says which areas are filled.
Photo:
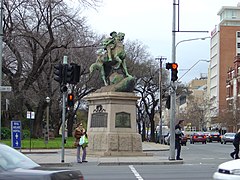
[[[74, 145], [77, 147], [77, 162], [78, 163], [82, 163], [82, 162], [87, 162], [86, 161], [86, 147], [83, 148], [83, 146], [81, 146], [79, 144], [80, 142], [80, 138], [86, 134], [85, 129], [83, 128], [83, 124], [82, 123], [78, 123], [77, 127], [74, 131], [74, 137], [75, 137], [75, 142]], [[82, 152], [82, 160], [80, 158], [80, 150], [83, 150]]]

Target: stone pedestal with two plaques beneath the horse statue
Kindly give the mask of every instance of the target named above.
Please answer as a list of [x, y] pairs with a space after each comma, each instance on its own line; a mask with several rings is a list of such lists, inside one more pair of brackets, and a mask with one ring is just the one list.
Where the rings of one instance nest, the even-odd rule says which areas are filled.
[[109, 156], [144, 155], [134, 93], [100, 92], [85, 99], [89, 102], [88, 151]]

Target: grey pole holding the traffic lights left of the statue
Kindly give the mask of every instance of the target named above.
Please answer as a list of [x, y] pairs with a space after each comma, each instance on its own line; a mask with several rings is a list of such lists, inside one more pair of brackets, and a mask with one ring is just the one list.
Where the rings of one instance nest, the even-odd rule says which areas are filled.
[[[67, 64], [67, 56], [63, 57], [63, 64]], [[65, 86], [65, 85], [64, 85]], [[64, 141], [65, 141], [65, 116], [66, 116], [66, 92], [63, 92], [62, 96], [62, 153], [61, 162], [64, 163]]]

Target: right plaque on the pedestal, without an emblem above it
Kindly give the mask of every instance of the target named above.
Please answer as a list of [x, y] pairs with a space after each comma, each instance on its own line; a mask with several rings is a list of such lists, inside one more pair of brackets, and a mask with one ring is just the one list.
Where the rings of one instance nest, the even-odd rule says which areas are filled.
[[115, 127], [116, 128], [131, 128], [130, 113], [126, 113], [126, 112], [116, 113]]

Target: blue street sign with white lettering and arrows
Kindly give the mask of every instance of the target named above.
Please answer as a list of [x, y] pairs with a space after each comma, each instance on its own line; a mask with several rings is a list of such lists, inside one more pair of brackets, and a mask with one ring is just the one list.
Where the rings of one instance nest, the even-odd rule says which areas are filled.
[[21, 121], [11, 121], [12, 147], [21, 148]]

